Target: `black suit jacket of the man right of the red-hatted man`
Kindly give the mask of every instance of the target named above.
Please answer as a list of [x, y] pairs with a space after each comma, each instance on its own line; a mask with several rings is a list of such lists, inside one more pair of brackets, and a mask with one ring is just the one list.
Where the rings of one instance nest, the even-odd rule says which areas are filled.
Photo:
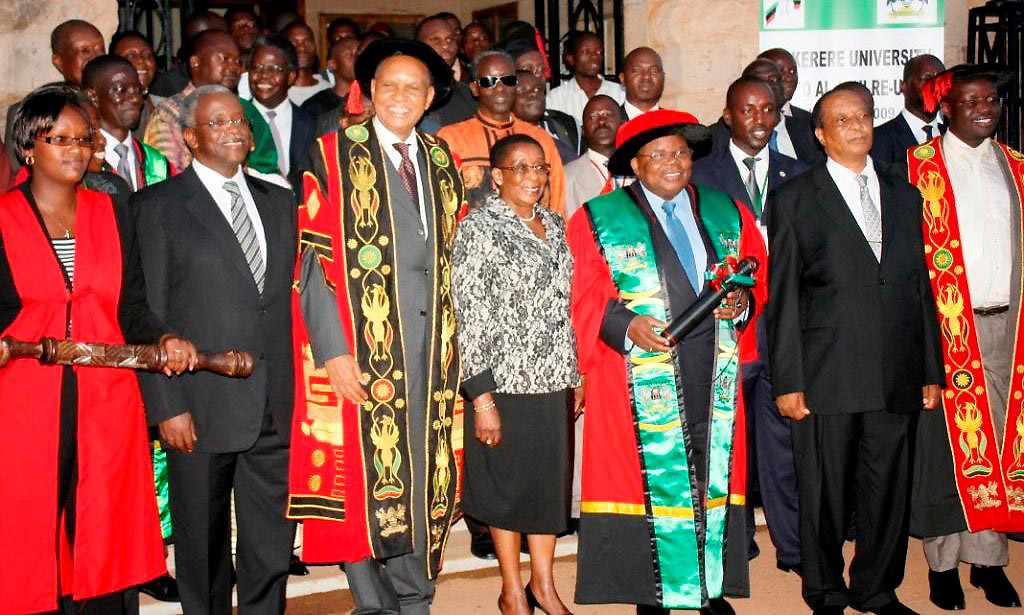
[[881, 263], [823, 164], [768, 196], [772, 385], [818, 414], [918, 411], [944, 382], [921, 195], [876, 170]]

